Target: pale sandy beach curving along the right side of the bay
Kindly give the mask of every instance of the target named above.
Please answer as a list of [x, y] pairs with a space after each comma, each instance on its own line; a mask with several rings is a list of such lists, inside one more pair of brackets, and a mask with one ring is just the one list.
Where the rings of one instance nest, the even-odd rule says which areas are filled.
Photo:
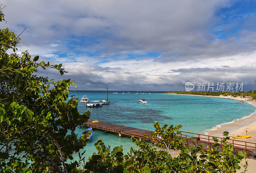
[[[237, 97], [231, 97], [231, 96], [194, 95], [194, 94], [178, 94], [178, 95], [192, 95], [192, 96], [201, 96], [201, 97], [233, 99], [233, 100], [239, 100], [239, 101], [246, 101], [249, 104], [252, 104], [256, 107], [256, 102], [249, 101], [248, 98], [240, 98], [240, 97], [237, 98]], [[245, 130], [247, 130], [247, 134], [251, 135], [252, 137], [247, 139], [242, 139], [242, 140], [256, 143], [256, 110], [251, 115], [244, 115], [244, 117], [240, 119], [218, 124], [215, 127], [212, 127], [211, 129], [207, 129], [206, 131], [204, 131], [204, 134], [209, 136], [223, 137], [222, 136], [223, 132], [227, 131], [229, 132], [228, 136], [246, 135]]]

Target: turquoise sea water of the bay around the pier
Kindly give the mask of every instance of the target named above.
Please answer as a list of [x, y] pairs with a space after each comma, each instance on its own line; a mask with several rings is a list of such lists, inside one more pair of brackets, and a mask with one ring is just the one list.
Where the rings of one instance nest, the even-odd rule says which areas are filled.
[[[73, 94], [74, 92], [69, 93], [69, 95]], [[90, 101], [106, 99], [104, 92], [78, 92], [78, 94], [79, 98], [87, 95]], [[141, 98], [146, 99], [148, 103], [140, 104], [138, 100]], [[203, 134], [205, 130], [218, 124], [249, 116], [255, 111], [253, 105], [236, 103], [236, 100], [178, 94], [109, 93], [109, 100], [111, 100], [109, 105], [88, 108], [91, 112], [90, 119], [151, 131], [154, 131], [154, 121], [157, 121], [161, 126], [181, 124], [183, 126], [181, 131]], [[86, 104], [79, 102], [78, 110], [80, 114], [85, 112]], [[78, 137], [85, 129], [86, 127], [76, 128]], [[112, 149], [123, 145], [124, 153], [129, 152], [130, 147], [136, 148], [128, 137], [118, 137], [117, 134], [93, 130], [92, 138], [83, 149], [86, 150], [86, 158], [96, 152], [94, 143], [98, 138]], [[78, 156], [75, 155], [74, 158], [77, 159]]]

